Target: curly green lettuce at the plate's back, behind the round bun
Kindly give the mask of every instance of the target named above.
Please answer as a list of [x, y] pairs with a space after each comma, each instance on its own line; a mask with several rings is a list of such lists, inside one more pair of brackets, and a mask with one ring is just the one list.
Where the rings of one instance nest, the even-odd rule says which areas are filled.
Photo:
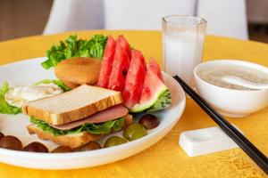
[[89, 40], [77, 39], [76, 35], [69, 36], [64, 42], [53, 45], [46, 51], [47, 60], [42, 62], [45, 69], [56, 66], [60, 61], [71, 57], [90, 57], [101, 59], [105, 52], [107, 36], [96, 35]]

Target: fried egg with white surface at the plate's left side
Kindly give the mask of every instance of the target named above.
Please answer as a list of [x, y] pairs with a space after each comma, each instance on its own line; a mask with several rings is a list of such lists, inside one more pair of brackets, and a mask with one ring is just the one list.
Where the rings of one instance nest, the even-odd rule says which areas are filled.
[[63, 89], [53, 83], [15, 86], [10, 88], [8, 92], [4, 94], [4, 100], [11, 106], [21, 108], [23, 104], [29, 101], [35, 101], [59, 93], [63, 93]]

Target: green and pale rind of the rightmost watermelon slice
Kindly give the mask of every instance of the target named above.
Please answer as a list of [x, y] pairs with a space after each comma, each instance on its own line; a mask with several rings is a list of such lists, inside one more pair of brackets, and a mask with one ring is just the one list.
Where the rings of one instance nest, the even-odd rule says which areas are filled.
[[158, 87], [158, 92], [155, 93], [154, 98], [146, 103], [135, 104], [130, 112], [153, 112], [169, 107], [172, 104], [172, 97], [169, 88], [166, 85]]

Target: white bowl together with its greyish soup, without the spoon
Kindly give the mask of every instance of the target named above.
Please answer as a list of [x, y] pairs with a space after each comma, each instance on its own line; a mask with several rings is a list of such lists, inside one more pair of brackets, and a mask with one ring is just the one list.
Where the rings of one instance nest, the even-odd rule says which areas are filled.
[[198, 93], [224, 116], [246, 117], [268, 105], [268, 90], [253, 90], [222, 80], [235, 76], [268, 84], [268, 69], [264, 66], [247, 61], [207, 61], [197, 65], [194, 76]]

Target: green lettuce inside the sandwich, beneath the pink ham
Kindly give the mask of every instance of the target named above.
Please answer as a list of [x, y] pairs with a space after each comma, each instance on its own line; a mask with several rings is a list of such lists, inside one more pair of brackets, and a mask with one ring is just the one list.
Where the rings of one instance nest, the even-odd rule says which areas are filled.
[[54, 136], [66, 135], [66, 134], [79, 134], [84, 131], [88, 131], [90, 134], [110, 134], [112, 131], [120, 131], [124, 126], [124, 117], [110, 120], [101, 124], [87, 123], [71, 130], [59, 130], [51, 125], [48, 125], [45, 121], [38, 120], [35, 117], [30, 117], [30, 122], [38, 125], [44, 132], [54, 134]]

